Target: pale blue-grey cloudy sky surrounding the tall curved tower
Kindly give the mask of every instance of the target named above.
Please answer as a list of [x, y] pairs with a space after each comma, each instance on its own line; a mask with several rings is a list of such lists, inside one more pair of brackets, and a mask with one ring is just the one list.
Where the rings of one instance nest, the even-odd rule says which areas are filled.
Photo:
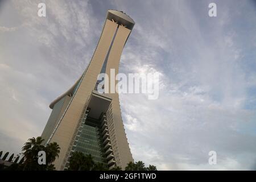
[[[46, 17], [38, 3], [46, 3]], [[209, 17], [209, 3], [217, 16]], [[0, 1], [0, 151], [42, 134], [49, 104], [89, 64], [108, 9], [135, 26], [121, 73], [159, 72], [159, 98], [120, 94], [135, 161], [256, 169], [255, 1]], [[208, 163], [216, 151], [217, 164]]]

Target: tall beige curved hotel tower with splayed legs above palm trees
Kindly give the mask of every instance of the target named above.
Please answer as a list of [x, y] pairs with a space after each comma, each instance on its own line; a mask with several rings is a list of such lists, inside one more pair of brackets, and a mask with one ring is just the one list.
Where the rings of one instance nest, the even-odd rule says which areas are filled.
[[[118, 73], [123, 47], [134, 26], [122, 11], [108, 10], [104, 28], [92, 60], [75, 84], [56, 98], [52, 113], [42, 133], [45, 143], [57, 142], [57, 170], [67, 169], [74, 151], [91, 154], [95, 162], [109, 169], [124, 169], [133, 162], [122, 122], [118, 93], [98, 93], [97, 77]], [[109, 85], [110, 88], [110, 85]]]

